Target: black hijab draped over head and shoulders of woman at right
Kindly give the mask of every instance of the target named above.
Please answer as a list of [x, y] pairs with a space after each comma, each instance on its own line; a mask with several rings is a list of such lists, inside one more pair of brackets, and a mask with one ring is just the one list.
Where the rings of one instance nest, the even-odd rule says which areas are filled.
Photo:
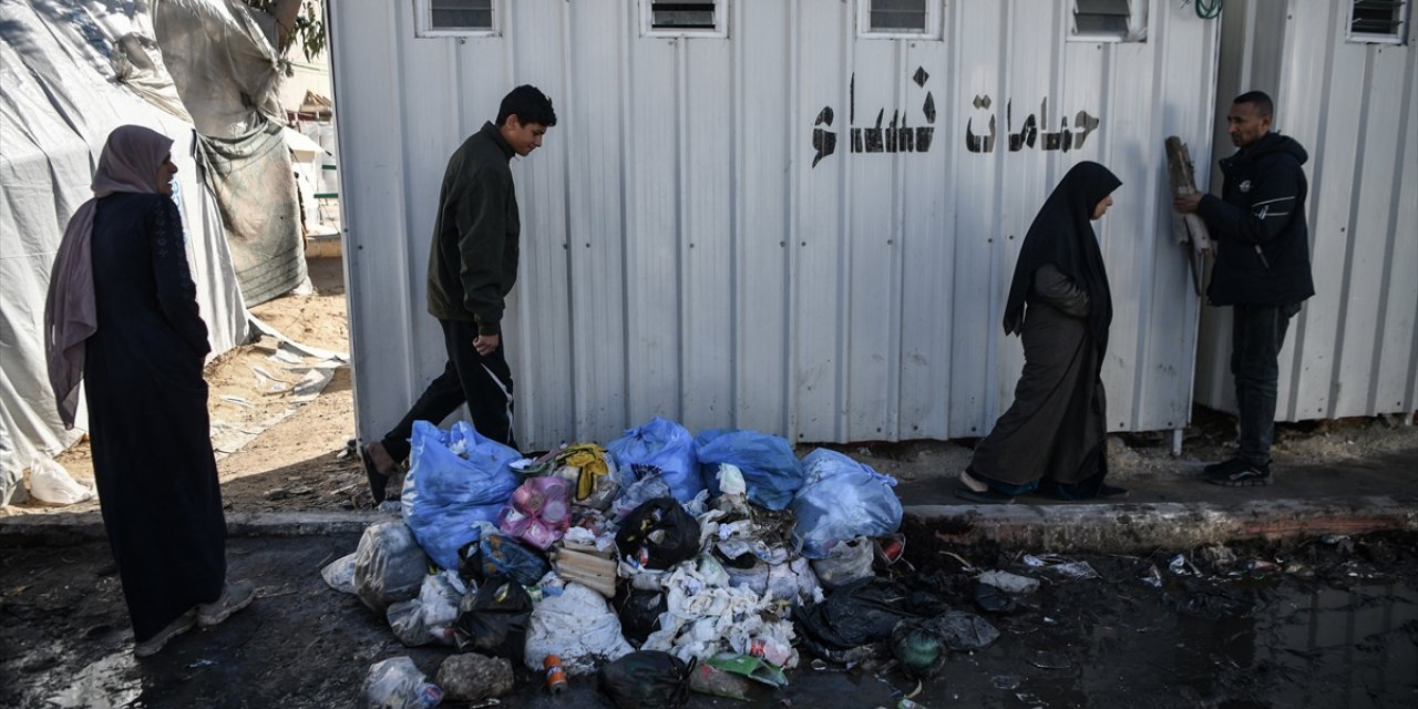
[[1024, 329], [1024, 301], [1034, 288], [1034, 272], [1054, 264], [1064, 275], [1088, 292], [1088, 329], [1099, 352], [1107, 349], [1107, 326], [1113, 322], [1113, 295], [1107, 289], [1103, 252], [1093, 234], [1093, 210], [1123, 183], [1107, 167], [1078, 163], [1034, 217], [1014, 265], [1010, 301], [1004, 306], [1004, 332]]

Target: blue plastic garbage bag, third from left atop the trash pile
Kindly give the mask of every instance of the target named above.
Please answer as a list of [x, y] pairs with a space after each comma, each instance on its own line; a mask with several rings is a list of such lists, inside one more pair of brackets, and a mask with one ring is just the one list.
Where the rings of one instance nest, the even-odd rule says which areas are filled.
[[803, 486], [803, 467], [781, 435], [715, 428], [695, 437], [695, 457], [710, 495], [719, 495], [719, 465], [725, 462], [743, 471], [749, 502], [760, 508], [783, 509]]

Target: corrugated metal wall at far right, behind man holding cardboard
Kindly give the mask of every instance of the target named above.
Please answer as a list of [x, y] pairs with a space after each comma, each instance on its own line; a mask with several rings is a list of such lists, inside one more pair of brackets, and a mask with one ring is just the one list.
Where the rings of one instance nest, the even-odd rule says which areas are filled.
[[[1280, 352], [1280, 421], [1418, 408], [1414, 17], [1407, 44], [1353, 43], [1349, 6], [1231, 1], [1222, 18], [1218, 135], [1229, 99], [1261, 89], [1275, 99], [1275, 128], [1310, 152], [1316, 295]], [[1214, 157], [1232, 150], [1222, 139]], [[1212, 180], [1219, 186], [1219, 170]], [[1205, 308], [1197, 400], [1234, 411], [1229, 347], [1231, 309]]]

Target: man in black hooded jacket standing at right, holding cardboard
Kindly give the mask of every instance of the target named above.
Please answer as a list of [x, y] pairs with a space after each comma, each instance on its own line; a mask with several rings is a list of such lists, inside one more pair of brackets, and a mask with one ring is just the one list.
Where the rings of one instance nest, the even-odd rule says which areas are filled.
[[1221, 197], [1184, 194], [1181, 213], [1198, 213], [1217, 241], [1207, 298], [1232, 306], [1231, 374], [1235, 377], [1239, 437], [1235, 458], [1207, 467], [1208, 482], [1269, 485], [1271, 437], [1279, 354], [1290, 318], [1314, 295], [1310, 278], [1300, 169], [1309, 155], [1300, 143], [1271, 132], [1271, 96], [1242, 94], [1227, 113], [1227, 132], [1239, 150], [1221, 160]]

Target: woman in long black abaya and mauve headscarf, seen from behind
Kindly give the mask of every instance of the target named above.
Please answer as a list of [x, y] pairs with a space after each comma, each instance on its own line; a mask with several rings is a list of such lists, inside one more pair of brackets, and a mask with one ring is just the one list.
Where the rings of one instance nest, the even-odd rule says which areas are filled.
[[94, 476], [138, 657], [255, 596], [227, 583], [227, 526], [207, 423], [197, 312], [172, 139], [121, 126], [104, 145], [94, 199], [69, 220], [45, 303], [60, 417], [85, 381]]

